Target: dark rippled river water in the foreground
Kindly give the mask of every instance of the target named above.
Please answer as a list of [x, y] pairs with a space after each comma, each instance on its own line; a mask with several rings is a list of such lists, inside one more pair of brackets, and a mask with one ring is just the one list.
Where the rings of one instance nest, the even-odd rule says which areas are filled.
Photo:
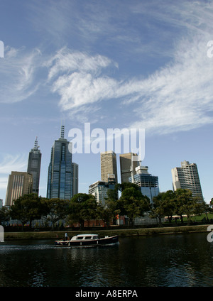
[[1, 287], [211, 287], [207, 234], [131, 236], [114, 246], [58, 248], [53, 241], [0, 243]]

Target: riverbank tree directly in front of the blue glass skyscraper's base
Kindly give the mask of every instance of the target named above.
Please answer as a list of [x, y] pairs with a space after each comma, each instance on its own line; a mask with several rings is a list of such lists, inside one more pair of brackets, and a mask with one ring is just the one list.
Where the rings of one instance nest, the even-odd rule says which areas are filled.
[[54, 229], [55, 223], [60, 219], [65, 219], [68, 213], [68, 201], [65, 199], [42, 199], [43, 217], [52, 224]]

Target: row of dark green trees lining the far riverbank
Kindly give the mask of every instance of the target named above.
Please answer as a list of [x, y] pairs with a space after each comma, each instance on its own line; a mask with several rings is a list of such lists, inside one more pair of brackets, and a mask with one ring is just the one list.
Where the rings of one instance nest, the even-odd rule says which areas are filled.
[[[121, 197], [119, 198], [119, 193]], [[118, 215], [129, 217], [129, 224], [133, 225], [136, 217], [143, 217], [145, 212], [149, 213], [151, 218], [158, 220], [162, 226], [161, 220], [168, 217], [172, 221], [174, 214], [180, 216], [183, 222], [183, 215], [187, 216], [190, 223], [192, 215], [206, 214], [213, 212], [213, 199], [210, 204], [200, 202], [200, 199], [192, 197], [190, 190], [178, 189], [175, 192], [168, 190], [160, 192], [158, 196], [153, 197], [153, 206], [150, 199], [142, 195], [138, 186], [132, 183], [122, 183], [116, 185], [114, 190], [108, 190], [105, 206], [97, 204], [93, 195], [79, 193], [72, 197], [70, 201], [64, 199], [46, 199], [38, 195], [24, 195], [19, 197], [11, 206], [9, 212], [3, 208], [0, 210], [0, 222], [11, 219], [18, 219], [24, 225], [35, 219], [44, 217], [46, 221], [55, 223], [61, 219], [66, 219], [69, 224], [79, 222], [84, 227], [84, 220], [103, 219], [109, 225], [111, 219]]]

